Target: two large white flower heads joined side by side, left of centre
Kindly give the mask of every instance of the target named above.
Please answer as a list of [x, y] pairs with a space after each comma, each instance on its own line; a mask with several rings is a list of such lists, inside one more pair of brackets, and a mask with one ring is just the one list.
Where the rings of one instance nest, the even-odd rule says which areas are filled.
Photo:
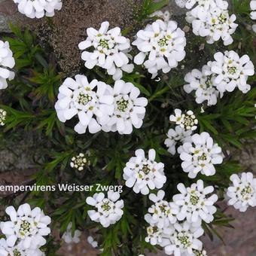
[[113, 89], [96, 79], [89, 83], [86, 76], [76, 75], [75, 80], [66, 78], [59, 87], [55, 108], [62, 122], [78, 115], [77, 133], [86, 133], [88, 127], [90, 133], [104, 130], [130, 134], [133, 126], [142, 126], [148, 105], [148, 100], [139, 98], [139, 94], [131, 83], [116, 81]]

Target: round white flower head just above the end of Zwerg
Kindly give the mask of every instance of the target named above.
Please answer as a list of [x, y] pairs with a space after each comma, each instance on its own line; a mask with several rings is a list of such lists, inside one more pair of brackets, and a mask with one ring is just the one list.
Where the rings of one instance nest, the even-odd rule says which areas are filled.
[[159, 189], [166, 183], [163, 163], [155, 162], [156, 151], [150, 149], [148, 158], [142, 149], [135, 151], [136, 157], [131, 157], [123, 169], [123, 178], [127, 187], [133, 187], [135, 193], [149, 194], [149, 190]]

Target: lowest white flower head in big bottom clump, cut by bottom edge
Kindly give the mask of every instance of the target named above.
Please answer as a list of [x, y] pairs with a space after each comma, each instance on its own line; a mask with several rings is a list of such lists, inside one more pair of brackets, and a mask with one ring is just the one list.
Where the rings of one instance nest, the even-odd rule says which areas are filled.
[[198, 239], [203, 235], [202, 227], [193, 226], [187, 221], [181, 224], [177, 222], [173, 227], [174, 231], [169, 236], [164, 237], [160, 243], [166, 254], [180, 256], [187, 253], [193, 255], [193, 250], [203, 248], [203, 243]]

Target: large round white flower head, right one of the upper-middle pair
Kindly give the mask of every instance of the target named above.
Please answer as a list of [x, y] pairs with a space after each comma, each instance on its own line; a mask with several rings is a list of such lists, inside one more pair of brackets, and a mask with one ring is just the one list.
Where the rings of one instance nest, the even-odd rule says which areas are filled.
[[148, 72], [155, 78], [159, 70], [168, 73], [178, 66], [178, 62], [186, 55], [184, 47], [186, 38], [184, 32], [178, 28], [175, 21], [163, 22], [156, 20], [148, 24], [144, 30], [137, 32], [133, 45], [139, 49], [134, 62], [144, 64]]

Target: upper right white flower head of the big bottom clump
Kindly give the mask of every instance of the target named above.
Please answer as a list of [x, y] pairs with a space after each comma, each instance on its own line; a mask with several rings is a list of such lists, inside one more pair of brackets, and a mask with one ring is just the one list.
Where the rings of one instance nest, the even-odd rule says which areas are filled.
[[205, 221], [210, 223], [213, 221], [213, 214], [216, 212], [216, 207], [213, 206], [217, 202], [216, 194], [208, 197], [214, 190], [214, 187], [203, 187], [203, 181], [198, 180], [197, 183], [190, 187], [184, 187], [184, 184], [177, 185], [181, 194], [175, 194], [172, 197], [173, 202], [179, 207], [177, 214], [178, 221], [200, 222]]

